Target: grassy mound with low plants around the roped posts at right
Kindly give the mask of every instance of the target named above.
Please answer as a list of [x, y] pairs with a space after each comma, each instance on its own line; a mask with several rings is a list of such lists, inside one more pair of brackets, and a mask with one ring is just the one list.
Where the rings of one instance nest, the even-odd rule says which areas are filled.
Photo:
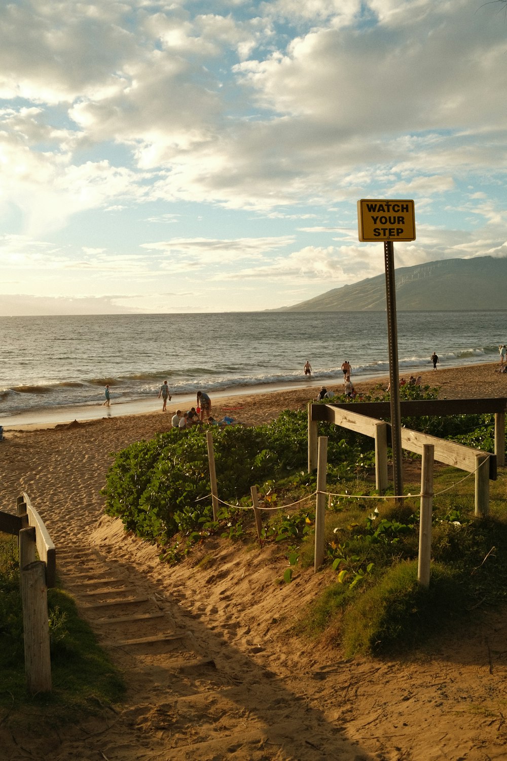
[[[348, 656], [407, 651], [471, 610], [507, 602], [507, 521], [501, 474], [491, 482], [490, 516], [474, 515], [474, 479], [445, 468], [436, 476], [429, 589], [417, 582], [419, 501], [341, 499], [326, 514], [327, 562], [337, 574], [304, 611], [297, 631], [334, 638]], [[460, 482], [460, 483], [458, 483]], [[451, 492], [444, 489], [454, 487]], [[416, 492], [418, 484], [407, 486]], [[330, 488], [330, 491], [333, 489]], [[349, 504], [350, 503], [350, 507]], [[302, 565], [312, 540], [299, 548]]]

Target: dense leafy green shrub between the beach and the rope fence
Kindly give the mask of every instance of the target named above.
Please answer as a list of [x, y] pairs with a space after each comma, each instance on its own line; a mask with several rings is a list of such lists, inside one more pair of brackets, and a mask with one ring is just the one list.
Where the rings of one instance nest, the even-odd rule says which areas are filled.
[[[344, 435], [334, 425], [325, 428], [330, 467], [344, 475], [350, 462], [361, 460], [358, 441], [369, 441], [370, 447], [372, 441], [353, 431]], [[214, 430], [220, 499], [235, 505], [249, 498], [253, 484], [283, 482], [289, 474], [293, 482], [301, 480], [308, 457], [307, 437], [306, 412], [289, 410], [256, 428]], [[308, 480], [304, 470], [303, 474]], [[125, 529], [166, 546], [176, 533], [189, 536], [211, 521], [210, 492], [205, 431], [171, 429], [119, 452], [104, 489], [106, 513], [120, 517]]]

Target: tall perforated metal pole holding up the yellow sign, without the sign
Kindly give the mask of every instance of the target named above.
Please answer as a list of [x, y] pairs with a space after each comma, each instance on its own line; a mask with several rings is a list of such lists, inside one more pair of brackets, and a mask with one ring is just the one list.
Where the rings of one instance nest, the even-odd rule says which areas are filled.
[[388, 316], [389, 381], [391, 392], [391, 443], [395, 495], [403, 494], [401, 469], [401, 412], [398, 371], [398, 326], [396, 323], [395, 252], [391, 240], [384, 242], [385, 295]]

